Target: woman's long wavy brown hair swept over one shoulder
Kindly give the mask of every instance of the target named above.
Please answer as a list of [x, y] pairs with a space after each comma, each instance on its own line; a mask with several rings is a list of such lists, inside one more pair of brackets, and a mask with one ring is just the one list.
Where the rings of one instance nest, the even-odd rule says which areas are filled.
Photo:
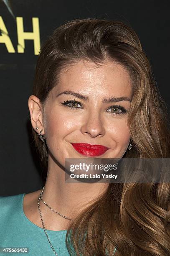
[[[167, 106], [133, 29], [121, 21], [96, 18], [56, 28], [41, 46], [36, 65], [33, 95], [43, 108], [62, 70], [79, 60], [116, 61], [129, 72], [133, 98], [127, 121], [133, 147], [123, 158], [170, 158]], [[48, 147], [32, 132], [47, 172]], [[79, 256], [170, 255], [170, 183], [109, 183], [71, 223], [66, 246]]]

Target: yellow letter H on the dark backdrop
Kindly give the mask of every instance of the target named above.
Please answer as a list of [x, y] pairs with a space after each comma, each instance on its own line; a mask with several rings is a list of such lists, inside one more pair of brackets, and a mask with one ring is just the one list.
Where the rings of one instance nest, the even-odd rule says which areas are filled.
[[24, 53], [25, 40], [34, 41], [34, 54], [38, 55], [40, 50], [40, 29], [39, 19], [32, 18], [33, 32], [24, 32], [23, 17], [16, 17], [18, 33], [18, 53]]

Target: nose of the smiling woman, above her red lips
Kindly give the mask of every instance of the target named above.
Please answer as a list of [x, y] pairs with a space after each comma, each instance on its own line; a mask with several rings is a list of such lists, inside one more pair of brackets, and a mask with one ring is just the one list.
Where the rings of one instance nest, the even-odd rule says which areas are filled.
[[89, 115], [84, 118], [81, 133], [87, 134], [92, 138], [104, 136], [104, 120], [102, 120], [99, 113], [89, 113]]

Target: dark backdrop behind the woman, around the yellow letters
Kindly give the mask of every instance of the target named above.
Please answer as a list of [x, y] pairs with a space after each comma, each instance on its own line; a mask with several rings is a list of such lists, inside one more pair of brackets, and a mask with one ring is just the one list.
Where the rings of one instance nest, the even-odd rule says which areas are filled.
[[23, 17], [25, 32], [33, 31], [32, 18], [38, 17], [41, 43], [54, 28], [76, 18], [122, 20], [132, 26], [150, 60], [170, 117], [169, 1], [0, 0], [0, 16], [15, 48], [15, 53], [8, 53], [5, 44], [0, 43], [0, 195], [42, 188], [42, 171], [32, 144], [28, 109], [37, 55], [33, 40], [25, 40], [23, 54], [17, 52], [15, 17]]

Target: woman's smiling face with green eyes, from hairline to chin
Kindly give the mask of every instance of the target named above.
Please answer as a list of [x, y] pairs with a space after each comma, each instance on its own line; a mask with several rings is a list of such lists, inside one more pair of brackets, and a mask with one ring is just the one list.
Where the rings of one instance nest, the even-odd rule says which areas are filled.
[[[63, 166], [66, 158], [91, 157], [71, 144], [89, 143], [109, 148], [93, 157], [121, 158], [130, 141], [127, 115], [131, 86], [128, 72], [115, 62], [97, 67], [82, 61], [62, 72], [49, 93], [43, 117], [46, 143], [53, 157]], [[117, 97], [126, 98], [114, 101]]]

